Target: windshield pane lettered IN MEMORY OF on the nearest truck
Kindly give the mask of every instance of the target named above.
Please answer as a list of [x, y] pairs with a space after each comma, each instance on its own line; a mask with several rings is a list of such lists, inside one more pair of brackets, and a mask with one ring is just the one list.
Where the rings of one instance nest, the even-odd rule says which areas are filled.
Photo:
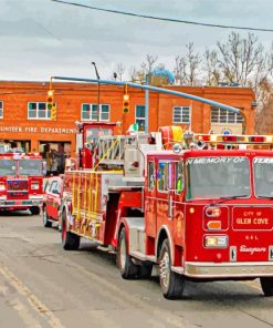
[[187, 161], [187, 199], [249, 197], [250, 162], [246, 157], [213, 156]]

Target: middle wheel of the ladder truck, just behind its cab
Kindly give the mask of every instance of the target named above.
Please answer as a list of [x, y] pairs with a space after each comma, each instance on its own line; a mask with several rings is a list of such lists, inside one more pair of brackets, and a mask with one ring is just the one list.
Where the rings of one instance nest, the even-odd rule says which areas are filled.
[[124, 279], [136, 278], [138, 274], [138, 267], [132, 262], [132, 258], [128, 255], [128, 245], [126, 242], [126, 233], [124, 228], [122, 229], [118, 238], [117, 263]]

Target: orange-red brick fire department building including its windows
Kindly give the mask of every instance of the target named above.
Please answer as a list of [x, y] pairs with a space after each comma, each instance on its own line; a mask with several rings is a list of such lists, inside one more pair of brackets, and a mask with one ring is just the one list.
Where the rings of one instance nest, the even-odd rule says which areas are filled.
[[[240, 107], [245, 113], [246, 133], [254, 132], [254, 94], [243, 88], [169, 86], [172, 90], [207, 98]], [[123, 113], [123, 86], [86, 83], [53, 83], [56, 121], [50, 120], [46, 109], [49, 82], [0, 81], [0, 141], [22, 146], [27, 152], [45, 154], [50, 148], [75, 153], [75, 122], [96, 121], [99, 99], [99, 120], [122, 122], [119, 133], [132, 123], [145, 124], [145, 91], [128, 89], [129, 113]], [[162, 125], [181, 125], [193, 132], [240, 133], [242, 116], [218, 107], [169, 94], [149, 92], [149, 131]]]

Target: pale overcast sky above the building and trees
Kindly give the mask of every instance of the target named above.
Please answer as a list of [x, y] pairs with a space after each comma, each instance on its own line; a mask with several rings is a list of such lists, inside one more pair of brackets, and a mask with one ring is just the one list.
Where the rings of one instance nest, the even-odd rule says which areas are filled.
[[[67, 0], [105, 9], [273, 29], [272, 0]], [[145, 55], [172, 70], [193, 42], [196, 51], [225, 41], [232, 30], [126, 17], [51, 0], [0, 0], [0, 80], [49, 80], [51, 75], [109, 79], [116, 64], [129, 70]], [[246, 35], [248, 31], [238, 31]], [[255, 32], [270, 47], [273, 32]]]

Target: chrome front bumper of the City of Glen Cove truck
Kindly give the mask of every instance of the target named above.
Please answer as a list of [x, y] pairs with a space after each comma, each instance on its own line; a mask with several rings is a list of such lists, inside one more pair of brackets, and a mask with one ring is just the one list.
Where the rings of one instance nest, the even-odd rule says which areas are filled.
[[[175, 269], [176, 270], [176, 269]], [[187, 262], [183, 275], [192, 278], [243, 278], [273, 276], [273, 262], [206, 263]]]

